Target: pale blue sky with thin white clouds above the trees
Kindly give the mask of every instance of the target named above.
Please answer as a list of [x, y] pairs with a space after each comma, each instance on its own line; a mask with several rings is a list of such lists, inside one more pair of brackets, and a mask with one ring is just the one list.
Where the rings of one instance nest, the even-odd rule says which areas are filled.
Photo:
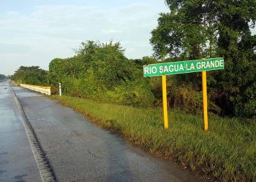
[[0, 0], [0, 74], [48, 70], [86, 40], [120, 41], [127, 58], [151, 55], [151, 31], [167, 11], [164, 0]]

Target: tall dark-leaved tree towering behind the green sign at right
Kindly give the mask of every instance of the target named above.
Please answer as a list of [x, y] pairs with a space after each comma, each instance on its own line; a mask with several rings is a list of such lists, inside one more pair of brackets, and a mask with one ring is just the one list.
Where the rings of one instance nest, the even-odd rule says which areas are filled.
[[[154, 56], [167, 60], [222, 57], [225, 71], [208, 72], [209, 99], [222, 114], [256, 115], [256, 1], [165, 0], [151, 34]], [[200, 88], [200, 74], [176, 76], [179, 85]]]

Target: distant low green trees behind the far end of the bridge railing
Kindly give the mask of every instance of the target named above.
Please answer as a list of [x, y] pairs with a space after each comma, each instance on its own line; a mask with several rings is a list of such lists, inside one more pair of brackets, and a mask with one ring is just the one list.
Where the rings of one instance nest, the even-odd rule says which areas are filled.
[[48, 71], [39, 66], [20, 66], [11, 79], [18, 84], [46, 85], [48, 84]]

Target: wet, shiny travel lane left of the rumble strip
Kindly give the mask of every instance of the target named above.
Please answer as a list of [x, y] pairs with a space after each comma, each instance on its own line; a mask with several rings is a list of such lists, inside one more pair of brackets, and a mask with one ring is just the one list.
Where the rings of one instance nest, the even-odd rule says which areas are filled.
[[0, 181], [40, 181], [12, 90], [0, 82]]

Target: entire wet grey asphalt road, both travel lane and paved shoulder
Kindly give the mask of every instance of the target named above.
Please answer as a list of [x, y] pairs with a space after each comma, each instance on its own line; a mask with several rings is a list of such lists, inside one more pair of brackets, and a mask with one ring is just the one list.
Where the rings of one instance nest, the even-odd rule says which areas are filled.
[[[56, 181], [201, 181], [173, 162], [152, 157], [91, 124], [56, 100], [12, 88]], [[0, 167], [0, 181], [15, 181], [15, 176], [23, 176], [20, 181], [38, 181], [40, 169], [13, 97], [7, 82], [0, 83], [0, 161], [6, 163]]]

